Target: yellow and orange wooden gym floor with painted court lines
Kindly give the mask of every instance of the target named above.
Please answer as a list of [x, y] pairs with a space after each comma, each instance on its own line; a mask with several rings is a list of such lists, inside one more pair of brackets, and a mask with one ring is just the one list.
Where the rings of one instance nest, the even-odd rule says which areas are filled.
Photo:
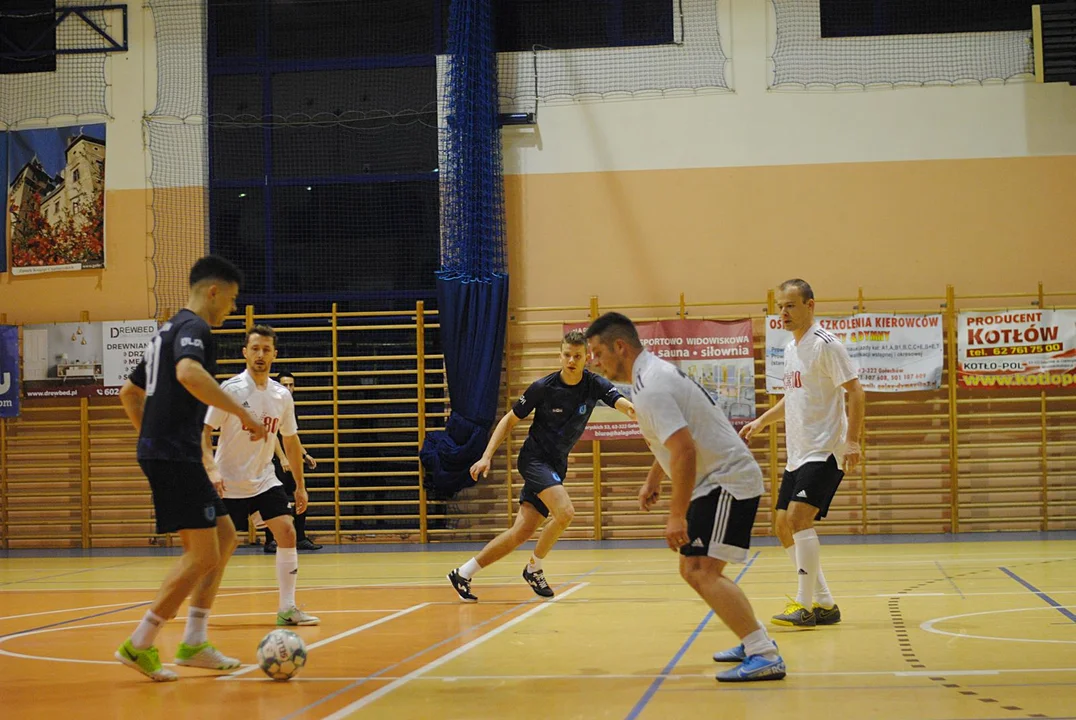
[[[1014, 539], [1016, 538], [1016, 539]], [[780, 682], [719, 684], [735, 644], [654, 542], [564, 542], [538, 602], [523, 552], [476, 579], [464, 605], [444, 574], [473, 547], [300, 555], [297, 629], [310, 652], [289, 682], [254, 666], [180, 668], [157, 684], [112, 660], [174, 562], [169, 551], [0, 552], [3, 718], [1066, 718], [1076, 716], [1076, 534], [823, 538], [845, 621], [774, 629]], [[897, 541], [894, 541], [897, 540]], [[794, 593], [761, 539], [732, 577], [762, 618]], [[354, 551], [360, 550], [360, 551]], [[210, 638], [244, 663], [273, 627], [271, 555], [231, 561]], [[158, 645], [170, 658], [181, 617]]]

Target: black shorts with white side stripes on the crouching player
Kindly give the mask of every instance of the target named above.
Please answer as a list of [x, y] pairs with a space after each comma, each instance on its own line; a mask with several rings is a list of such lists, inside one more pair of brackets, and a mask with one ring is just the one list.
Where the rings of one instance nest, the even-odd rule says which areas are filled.
[[759, 497], [738, 500], [724, 488], [691, 502], [688, 506], [688, 537], [681, 555], [707, 556], [727, 563], [742, 563], [751, 547], [751, 530], [759, 512]]

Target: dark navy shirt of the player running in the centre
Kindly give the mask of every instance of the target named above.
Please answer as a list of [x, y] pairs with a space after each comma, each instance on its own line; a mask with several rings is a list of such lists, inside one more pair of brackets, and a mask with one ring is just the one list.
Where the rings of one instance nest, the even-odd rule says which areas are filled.
[[575, 385], [566, 385], [560, 372], [535, 380], [512, 406], [520, 420], [535, 412], [520, 454], [535, 454], [563, 469], [598, 400], [614, 407], [621, 397], [611, 382], [590, 370]]

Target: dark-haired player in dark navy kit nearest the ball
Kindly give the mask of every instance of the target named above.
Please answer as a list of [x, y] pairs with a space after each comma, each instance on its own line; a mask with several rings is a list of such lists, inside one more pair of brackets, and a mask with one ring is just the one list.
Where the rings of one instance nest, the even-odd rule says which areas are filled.
[[178, 665], [232, 669], [240, 663], [206, 637], [209, 611], [225, 565], [236, 549], [236, 526], [211, 476], [218, 476], [212, 448], [202, 441], [206, 407], [237, 415], [253, 439], [266, 428], [221, 390], [213, 378], [216, 352], [210, 327], [236, 309], [242, 276], [228, 260], [209, 255], [190, 268], [187, 305], [146, 345], [145, 355], [119, 391], [127, 417], [139, 433], [138, 461], [150, 480], [158, 533], [179, 533], [183, 556], [142, 622], [115, 657], [164, 682], [176, 679], [161, 666], [154, 639], [189, 595], [190, 609]]

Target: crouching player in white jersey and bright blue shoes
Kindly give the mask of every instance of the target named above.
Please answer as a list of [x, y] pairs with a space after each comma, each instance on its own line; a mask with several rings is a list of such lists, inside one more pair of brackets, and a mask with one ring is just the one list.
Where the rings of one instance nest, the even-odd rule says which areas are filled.
[[631, 320], [607, 312], [586, 329], [594, 366], [613, 382], [632, 382], [639, 429], [656, 457], [639, 491], [649, 510], [671, 479], [665, 541], [680, 553], [680, 575], [740, 638], [713, 655], [736, 667], [718, 680], [780, 680], [784, 661], [747, 595], [725, 577], [725, 564], [742, 563], [762, 495], [762, 470], [728, 419], [700, 385], [643, 350]]

